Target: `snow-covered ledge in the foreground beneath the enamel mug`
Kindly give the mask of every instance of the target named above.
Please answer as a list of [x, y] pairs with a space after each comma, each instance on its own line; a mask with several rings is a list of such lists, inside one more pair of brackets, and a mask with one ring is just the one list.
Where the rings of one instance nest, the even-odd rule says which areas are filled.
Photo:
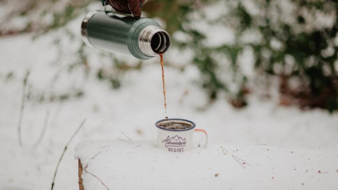
[[[75, 147], [80, 190], [242, 190], [338, 187], [338, 149], [210, 144], [171, 153], [150, 141]], [[82, 172], [82, 174], [81, 174]]]

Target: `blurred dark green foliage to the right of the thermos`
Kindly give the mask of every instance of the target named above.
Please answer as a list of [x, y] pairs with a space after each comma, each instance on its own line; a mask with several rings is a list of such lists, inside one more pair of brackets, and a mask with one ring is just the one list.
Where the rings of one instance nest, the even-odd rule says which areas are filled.
[[[170, 5], [169, 1], [172, 2]], [[240, 58], [244, 48], [250, 47], [255, 56], [254, 65], [257, 70], [269, 75], [283, 76], [287, 80], [297, 79], [299, 89], [284, 85], [283, 88], [286, 89], [280, 91], [298, 100], [301, 107], [337, 110], [338, 2], [161, 0], [157, 3], [168, 7], [159, 8], [160, 11], [152, 12], [151, 15], [165, 19], [170, 32], [180, 30], [192, 39], [174, 44], [179, 48], [191, 48], [195, 51], [193, 64], [200, 69], [202, 86], [207, 89], [211, 98], [215, 98], [218, 92], [225, 91], [231, 95], [232, 102], [238, 99], [246, 102], [243, 89], [247, 86], [247, 77], [241, 71]], [[210, 6], [215, 10], [207, 9]], [[206, 10], [209, 12], [205, 12]], [[213, 11], [220, 14], [209, 18], [208, 15], [216, 14]], [[171, 19], [175, 15], [178, 15], [177, 19]], [[234, 42], [217, 47], [205, 46], [205, 43], [203, 45], [212, 32], [199, 30], [196, 26], [205, 25], [204, 27], [212, 31], [217, 24], [234, 31]], [[243, 40], [247, 33], [253, 32], [256, 33], [256, 40]], [[224, 63], [215, 60], [214, 53], [227, 55], [231, 75], [237, 76], [233, 81], [220, 79], [222, 74], [218, 70]], [[229, 89], [229, 83], [232, 82], [237, 85], [235, 91]]]

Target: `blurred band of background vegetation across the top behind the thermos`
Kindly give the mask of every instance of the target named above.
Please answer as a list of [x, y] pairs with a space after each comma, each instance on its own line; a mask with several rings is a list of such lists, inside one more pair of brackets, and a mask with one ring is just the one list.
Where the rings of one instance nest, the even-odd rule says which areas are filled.
[[[142, 62], [129, 64], [102, 52], [110, 66], [91, 71], [80, 33], [64, 27], [83, 17], [95, 2], [101, 0], [1, 0], [7, 8], [0, 20], [0, 35], [34, 32], [39, 37], [64, 30], [66, 37], [56, 38], [54, 45], [60, 46], [62, 55], [64, 38], [76, 44], [68, 70], [84, 68], [88, 75], [120, 88], [120, 76], [140, 69]], [[210, 101], [226, 98], [234, 107], [242, 108], [251, 92], [261, 86], [268, 88], [275, 84], [270, 81], [278, 79], [281, 105], [337, 111], [336, 0], [148, 0], [143, 11], [164, 21], [173, 48], [193, 52], [187, 64], [200, 70], [199, 82]], [[24, 24], [13, 24], [16, 20]], [[248, 67], [252, 69], [248, 71]], [[268, 91], [263, 94], [270, 96]], [[71, 92], [59, 99], [71, 95], [82, 93]]]

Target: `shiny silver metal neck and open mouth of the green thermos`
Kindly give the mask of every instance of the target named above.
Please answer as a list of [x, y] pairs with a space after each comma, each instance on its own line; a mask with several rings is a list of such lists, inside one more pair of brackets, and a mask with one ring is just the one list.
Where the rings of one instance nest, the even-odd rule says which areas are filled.
[[138, 46], [147, 56], [157, 56], [168, 51], [170, 47], [170, 36], [168, 32], [158, 26], [145, 27], [138, 38]]

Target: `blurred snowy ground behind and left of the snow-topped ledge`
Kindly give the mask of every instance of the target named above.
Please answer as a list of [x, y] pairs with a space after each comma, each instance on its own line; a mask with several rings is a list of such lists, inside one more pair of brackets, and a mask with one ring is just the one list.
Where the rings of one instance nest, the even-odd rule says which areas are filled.
[[[76, 33], [80, 21], [81, 18], [70, 23], [70, 30]], [[148, 61], [141, 71], [127, 72], [122, 87], [112, 90], [107, 83], [98, 81], [93, 75], [85, 76], [79, 68], [69, 74], [65, 68], [71, 55], [60, 56], [56, 53], [56, 47], [52, 46], [53, 35], [59, 34], [48, 34], [35, 41], [31, 40], [31, 34], [0, 38], [1, 190], [49, 189], [64, 145], [84, 118], [84, 127], [61, 162], [55, 181], [56, 190], [78, 187], [77, 160], [73, 157], [76, 143], [83, 140], [116, 140], [124, 137], [121, 131], [133, 140], [154, 140], [154, 123], [165, 116], [158, 59]], [[67, 41], [64, 43], [67, 44]], [[67, 48], [75, 45], [69, 44]], [[88, 48], [87, 51], [93, 50]], [[177, 53], [175, 50], [171, 52]], [[93, 53], [91, 61], [95, 61], [97, 56], [97, 53]], [[60, 61], [52, 65], [57, 57]], [[165, 55], [164, 60], [172, 60], [170, 57], [170, 54]], [[133, 58], [124, 59], [137, 62]], [[184, 59], [184, 55], [179, 58], [181, 61]], [[28, 91], [33, 94], [82, 89], [84, 96], [62, 103], [26, 102], [21, 148], [17, 140], [17, 123], [22, 79], [27, 70], [31, 71]], [[7, 79], [9, 72], [13, 72], [13, 77]], [[199, 77], [198, 70], [194, 66], [188, 66], [184, 72], [165, 67], [165, 72], [167, 115], [194, 121], [198, 128], [208, 132], [210, 144], [240, 142], [329, 147], [337, 149], [338, 155], [337, 112], [329, 114], [317, 109], [301, 111], [294, 107], [279, 107], [273, 98], [262, 100], [256, 92], [250, 96], [249, 106], [242, 110], [232, 108], [225, 98], [201, 109], [207, 99], [193, 83]], [[56, 73], [59, 73], [59, 78], [53, 83], [51, 81]], [[46, 134], [41, 144], [33, 149], [46, 114], [49, 114]]]

